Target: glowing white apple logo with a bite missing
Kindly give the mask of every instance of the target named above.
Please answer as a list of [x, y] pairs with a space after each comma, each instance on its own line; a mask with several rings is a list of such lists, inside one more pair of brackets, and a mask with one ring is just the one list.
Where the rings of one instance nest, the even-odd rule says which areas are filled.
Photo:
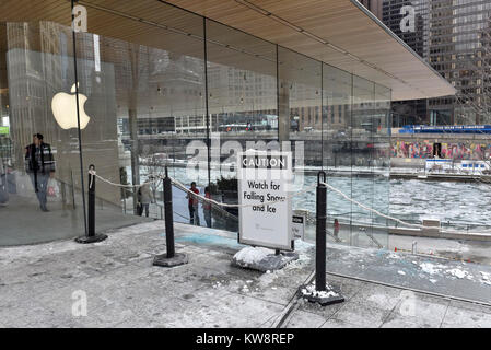
[[[56, 121], [62, 129], [77, 128], [77, 95], [75, 84], [71, 86], [70, 92], [57, 93], [51, 101], [51, 110]], [[87, 97], [79, 92], [79, 107], [80, 107], [80, 128], [84, 129], [91, 117], [85, 113], [84, 105]]]

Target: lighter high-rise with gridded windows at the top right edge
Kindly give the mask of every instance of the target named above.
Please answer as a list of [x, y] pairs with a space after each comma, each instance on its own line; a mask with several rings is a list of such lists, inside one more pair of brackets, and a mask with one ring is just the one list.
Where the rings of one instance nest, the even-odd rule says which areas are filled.
[[431, 100], [430, 121], [443, 114], [451, 124], [490, 124], [491, 2], [432, 1], [431, 13], [429, 62], [457, 94]]

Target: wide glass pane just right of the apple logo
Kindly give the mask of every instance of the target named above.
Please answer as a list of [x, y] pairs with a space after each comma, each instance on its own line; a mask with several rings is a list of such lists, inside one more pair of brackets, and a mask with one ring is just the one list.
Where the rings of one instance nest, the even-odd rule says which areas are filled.
[[[150, 0], [84, 5], [89, 33], [78, 34], [80, 89], [91, 115], [84, 163], [114, 183], [148, 182], [140, 190], [97, 183], [107, 215], [114, 208], [161, 219], [165, 166], [201, 194], [208, 182], [203, 20]], [[190, 221], [186, 195], [174, 187], [176, 221]]]

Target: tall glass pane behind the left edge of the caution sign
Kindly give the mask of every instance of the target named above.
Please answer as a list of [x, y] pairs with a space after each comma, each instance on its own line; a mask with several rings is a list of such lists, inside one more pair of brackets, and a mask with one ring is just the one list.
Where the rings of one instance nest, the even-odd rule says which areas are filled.
[[[276, 46], [207, 20], [210, 188], [237, 203], [236, 154], [279, 150]], [[237, 208], [215, 208], [213, 228], [236, 232]]]

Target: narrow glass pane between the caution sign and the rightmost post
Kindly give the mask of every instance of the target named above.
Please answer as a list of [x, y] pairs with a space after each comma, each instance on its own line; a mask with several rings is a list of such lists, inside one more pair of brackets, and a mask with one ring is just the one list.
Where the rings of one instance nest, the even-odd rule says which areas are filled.
[[[283, 47], [278, 49], [280, 141], [294, 158], [295, 191], [317, 183], [323, 165], [322, 66], [320, 62]], [[284, 121], [281, 121], [284, 120]], [[315, 218], [315, 187], [293, 197], [296, 214]], [[307, 228], [314, 237], [314, 226]]]

